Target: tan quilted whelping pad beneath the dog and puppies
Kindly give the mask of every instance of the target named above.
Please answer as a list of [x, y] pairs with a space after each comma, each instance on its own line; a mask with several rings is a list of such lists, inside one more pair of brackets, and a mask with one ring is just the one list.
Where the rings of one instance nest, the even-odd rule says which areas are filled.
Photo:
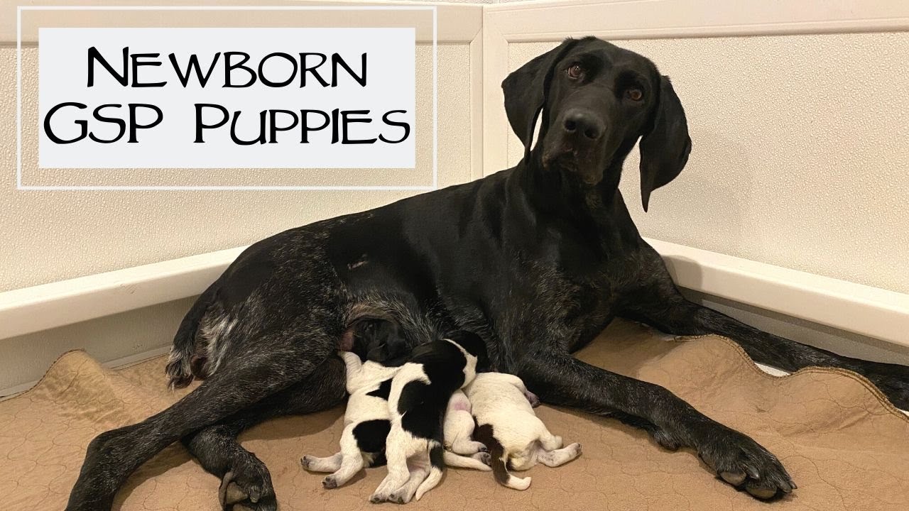
[[[537, 414], [584, 453], [559, 468], [536, 466], [530, 489], [497, 486], [489, 473], [449, 469], [406, 509], [791, 510], [909, 509], [909, 418], [861, 376], [809, 368], [761, 372], [732, 341], [665, 341], [616, 322], [579, 356], [668, 387], [707, 416], [754, 437], [780, 458], [799, 488], [773, 504], [711, 475], [690, 451], [667, 452], [614, 420], [541, 406]], [[63, 509], [93, 436], [140, 421], [185, 391], [166, 388], [165, 358], [108, 370], [83, 352], [62, 356], [32, 390], [0, 402], [0, 496], [5, 509]], [[337, 450], [344, 410], [275, 419], [241, 436], [271, 470], [280, 509], [373, 509], [385, 468], [325, 490], [299, 458]], [[175, 445], [140, 468], [117, 496], [124, 511], [219, 511], [218, 480]], [[386, 504], [385, 507], [395, 505]]]

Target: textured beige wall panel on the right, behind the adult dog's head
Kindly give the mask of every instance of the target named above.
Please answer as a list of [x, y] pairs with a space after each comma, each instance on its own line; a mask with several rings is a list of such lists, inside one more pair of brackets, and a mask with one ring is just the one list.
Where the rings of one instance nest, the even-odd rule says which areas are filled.
[[[643, 235], [909, 292], [909, 34], [615, 43], [672, 76], [694, 139], [649, 213], [625, 165]], [[510, 45], [510, 67], [554, 45]]]

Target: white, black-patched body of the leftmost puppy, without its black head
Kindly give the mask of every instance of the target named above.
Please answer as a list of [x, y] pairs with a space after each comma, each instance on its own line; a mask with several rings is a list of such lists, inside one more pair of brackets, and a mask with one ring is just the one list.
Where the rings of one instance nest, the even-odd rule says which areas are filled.
[[341, 451], [334, 456], [303, 456], [300, 460], [306, 470], [334, 472], [322, 481], [326, 488], [344, 485], [364, 465], [385, 462], [385, 437], [391, 429], [388, 393], [392, 378], [401, 369], [371, 360], [362, 363], [359, 356], [349, 351], [341, 352], [341, 356], [347, 366], [347, 392], [350, 394]]

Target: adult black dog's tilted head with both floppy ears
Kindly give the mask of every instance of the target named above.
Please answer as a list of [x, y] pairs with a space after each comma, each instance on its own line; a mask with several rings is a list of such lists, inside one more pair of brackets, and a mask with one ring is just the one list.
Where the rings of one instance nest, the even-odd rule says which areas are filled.
[[[502, 83], [505, 112], [525, 157], [542, 114], [538, 148], [545, 172], [596, 186], [618, 172], [641, 139], [641, 199], [678, 175], [691, 138], [684, 109], [667, 76], [642, 55], [594, 37], [567, 39]], [[609, 183], [618, 183], [618, 175]]]

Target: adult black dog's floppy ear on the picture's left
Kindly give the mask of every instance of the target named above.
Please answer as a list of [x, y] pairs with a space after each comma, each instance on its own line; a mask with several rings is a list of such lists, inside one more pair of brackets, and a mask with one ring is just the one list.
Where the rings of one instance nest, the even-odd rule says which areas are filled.
[[[534, 125], [545, 105], [553, 66], [577, 43], [575, 39], [565, 39], [561, 45], [522, 65], [502, 82], [508, 124], [524, 143], [524, 155], [530, 153], [530, 145], [534, 143]], [[545, 114], [543, 122], [542, 129], [545, 129]]]

